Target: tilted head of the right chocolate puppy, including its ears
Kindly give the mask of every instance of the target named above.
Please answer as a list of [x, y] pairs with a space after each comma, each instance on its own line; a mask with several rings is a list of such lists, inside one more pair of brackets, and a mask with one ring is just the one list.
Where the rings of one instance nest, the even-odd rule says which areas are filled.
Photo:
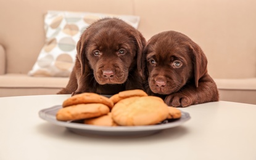
[[147, 89], [168, 95], [186, 83], [198, 87], [207, 71], [207, 58], [202, 49], [184, 34], [165, 31], [147, 42], [142, 54], [142, 76]]

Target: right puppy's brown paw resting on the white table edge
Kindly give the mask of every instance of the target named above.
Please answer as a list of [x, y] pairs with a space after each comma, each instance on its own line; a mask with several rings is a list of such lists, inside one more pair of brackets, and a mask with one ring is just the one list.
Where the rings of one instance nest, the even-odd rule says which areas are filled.
[[185, 107], [192, 105], [192, 98], [181, 93], [176, 93], [167, 95], [167, 97], [165, 97], [165, 103], [169, 106]]

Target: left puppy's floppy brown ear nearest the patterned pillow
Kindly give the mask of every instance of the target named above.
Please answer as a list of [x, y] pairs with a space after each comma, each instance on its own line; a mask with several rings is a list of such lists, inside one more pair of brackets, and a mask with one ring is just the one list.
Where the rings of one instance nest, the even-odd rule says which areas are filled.
[[89, 68], [88, 60], [86, 58], [86, 46], [85, 46], [85, 40], [86, 38], [83, 38], [81, 36], [80, 40], [76, 44], [76, 52], [77, 52], [77, 59], [80, 62], [81, 67], [81, 75], [85, 73], [85, 70]]

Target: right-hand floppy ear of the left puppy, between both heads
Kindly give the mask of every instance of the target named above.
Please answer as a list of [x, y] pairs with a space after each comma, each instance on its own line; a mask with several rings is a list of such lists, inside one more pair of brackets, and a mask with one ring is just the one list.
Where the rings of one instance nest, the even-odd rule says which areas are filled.
[[136, 39], [136, 48], [137, 48], [137, 68], [139, 73], [141, 73], [141, 60], [142, 60], [142, 50], [146, 46], [146, 39], [142, 36], [141, 33], [138, 33], [138, 36], [135, 36]]

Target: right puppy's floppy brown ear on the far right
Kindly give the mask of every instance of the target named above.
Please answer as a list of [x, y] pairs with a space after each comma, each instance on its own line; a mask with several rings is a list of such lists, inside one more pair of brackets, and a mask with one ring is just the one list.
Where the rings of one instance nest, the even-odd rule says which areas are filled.
[[193, 55], [192, 62], [194, 64], [195, 85], [198, 87], [199, 79], [207, 73], [207, 58], [202, 49], [195, 42], [192, 42], [189, 47]]

